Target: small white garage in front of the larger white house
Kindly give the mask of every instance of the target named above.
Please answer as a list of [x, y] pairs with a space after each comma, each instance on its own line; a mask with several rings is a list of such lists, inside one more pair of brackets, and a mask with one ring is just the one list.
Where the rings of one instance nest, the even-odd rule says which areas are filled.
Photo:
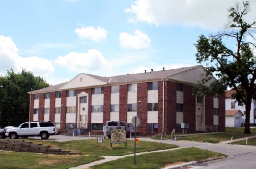
[[226, 110], [226, 127], [241, 127], [244, 114], [240, 110]]

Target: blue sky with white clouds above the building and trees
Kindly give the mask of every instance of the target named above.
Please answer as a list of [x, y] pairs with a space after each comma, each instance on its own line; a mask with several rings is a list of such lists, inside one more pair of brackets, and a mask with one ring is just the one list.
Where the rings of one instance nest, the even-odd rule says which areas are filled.
[[[55, 85], [80, 73], [110, 77], [199, 65], [199, 35], [223, 28], [235, 2], [0, 0], [0, 75], [23, 68]], [[253, 18], [256, 0], [250, 6]]]

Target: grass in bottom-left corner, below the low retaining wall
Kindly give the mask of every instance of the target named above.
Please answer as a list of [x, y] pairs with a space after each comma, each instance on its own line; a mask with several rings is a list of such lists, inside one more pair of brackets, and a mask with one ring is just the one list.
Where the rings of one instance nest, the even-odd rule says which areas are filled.
[[69, 169], [104, 159], [84, 155], [53, 155], [0, 151], [1, 169]]

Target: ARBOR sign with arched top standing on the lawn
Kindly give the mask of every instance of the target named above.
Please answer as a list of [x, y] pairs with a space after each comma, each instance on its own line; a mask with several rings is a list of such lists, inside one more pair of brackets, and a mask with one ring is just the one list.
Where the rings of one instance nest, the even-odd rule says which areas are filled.
[[113, 129], [110, 131], [111, 143], [126, 143], [126, 130]]

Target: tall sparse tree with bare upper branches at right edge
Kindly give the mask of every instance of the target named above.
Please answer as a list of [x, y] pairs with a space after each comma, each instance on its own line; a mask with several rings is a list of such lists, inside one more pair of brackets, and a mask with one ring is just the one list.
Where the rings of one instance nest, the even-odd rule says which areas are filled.
[[[198, 63], [206, 63], [206, 75], [205, 79], [195, 85], [194, 94], [198, 96], [202, 93], [223, 93], [225, 87], [235, 90], [232, 97], [236, 99], [238, 105], [245, 105], [246, 109], [245, 134], [251, 134], [250, 110], [253, 99], [256, 99], [256, 57], [254, 56], [256, 21], [245, 20], [245, 16], [250, 11], [249, 1], [243, 1], [242, 4], [235, 3], [228, 8], [227, 25], [209, 37], [199, 35], [195, 44], [198, 51], [196, 59]], [[228, 49], [224, 39], [232, 40], [236, 45], [234, 51]], [[204, 92], [197, 92], [197, 87], [204, 86], [205, 82], [209, 81], [208, 75], [213, 74], [218, 79], [215, 80], [215, 85], [205, 87]]]

